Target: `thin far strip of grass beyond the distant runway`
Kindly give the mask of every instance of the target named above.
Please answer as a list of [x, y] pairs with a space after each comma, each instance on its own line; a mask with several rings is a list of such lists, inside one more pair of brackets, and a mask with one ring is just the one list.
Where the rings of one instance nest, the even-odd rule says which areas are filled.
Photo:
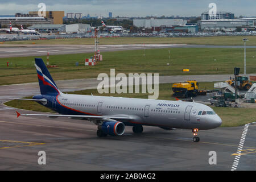
[[[109, 44], [203, 44], [203, 45], [226, 45], [241, 46], [244, 36], [216, 36], [198, 38], [100, 38], [101, 45]], [[256, 36], [246, 36], [250, 41], [248, 46], [256, 46]], [[49, 39], [49, 40], [24, 40], [5, 42], [4, 44], [94, 44], [94, 38], [75, 39]]]

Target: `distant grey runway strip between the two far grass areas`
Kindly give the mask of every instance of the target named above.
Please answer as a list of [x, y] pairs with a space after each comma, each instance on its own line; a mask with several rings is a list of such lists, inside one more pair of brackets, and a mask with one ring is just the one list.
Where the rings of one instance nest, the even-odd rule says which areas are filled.
[[[243, 46], [205, 46], [205, 45], [187, 45], [187, 44], [120, 44], [120, 45], [101, 45], [101, 52], [107, 51], [126, 51], [135, 49], [151, 48], [243, 48]], [[246, 48], [256, 48], [256, 46], [246, 46]], [[24, 57], [47, 55], [64, 55], [72, 53], [94, 52], [94, 45], [0, 45], [0, 57]]]

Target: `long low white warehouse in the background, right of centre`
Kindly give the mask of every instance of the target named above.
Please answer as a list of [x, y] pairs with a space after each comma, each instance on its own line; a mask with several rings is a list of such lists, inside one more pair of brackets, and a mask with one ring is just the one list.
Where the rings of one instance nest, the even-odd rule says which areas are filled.
[[183, 19], [134, 19], [133, 25], [138, 28], [152, 27], [172, 27], [180, 24], [186, 24], [187, 20]]

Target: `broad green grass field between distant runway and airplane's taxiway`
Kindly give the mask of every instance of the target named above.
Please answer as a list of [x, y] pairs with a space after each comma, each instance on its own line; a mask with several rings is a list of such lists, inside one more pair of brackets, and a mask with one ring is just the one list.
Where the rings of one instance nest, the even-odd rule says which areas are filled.
[[[247, 73], [255, 73], [255, 50], [246, 50]], [[99, 73], [109, 75], [110, 68], [115, 68], [116, 74], [159, 73], [160, 76], [233, 74], [234, 67], [243, 68], [243, 49], [240, 48], [146, 49], [144, 59], [143, 53], [143, 50], [103, 52], [104, 61], [94, 67], [84, 66], [84, 59], [93, 53], [50, 55], [50, 64], [58, 67], [49, 68], [49, 71], [55, 80], [67, 80], [94, 78]], [[46, 62], [46, 56], [40, 57]], [[34, 58], [35, 56], [1, 58], [0, 85], [37, 81]], [[10, 62], [10, 67], [6, 67], [6, 61]], [[76, 62], [79, 62], [79, 66], [75, 65]], [[190, 69], [190, 72], [184, 73], [182, 69]], [[242, 71], [243, 69], [241, 73]]]

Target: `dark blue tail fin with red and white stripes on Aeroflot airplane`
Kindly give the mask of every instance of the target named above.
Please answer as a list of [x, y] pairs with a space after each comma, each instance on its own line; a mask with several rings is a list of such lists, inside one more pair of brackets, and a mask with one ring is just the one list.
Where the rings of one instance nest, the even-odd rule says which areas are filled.
[[42, 59], [35, 58], [35, 67], [36, 71], [38, 72], [38, 81], [41, 94], [53, 96], [60, 94], [61, 92], [53, 81], [51, 74], [46, 68], [46, 64], [44, 64], [44, 61]]

